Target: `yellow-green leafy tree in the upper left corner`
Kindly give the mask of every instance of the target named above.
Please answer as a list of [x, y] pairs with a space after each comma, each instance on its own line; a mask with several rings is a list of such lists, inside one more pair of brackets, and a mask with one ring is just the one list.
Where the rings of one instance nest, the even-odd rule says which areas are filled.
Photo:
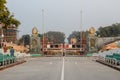
[[13, 14], [10, 14], [8, 8], [5, 6], [6, 0], [0, 0], [0, 22], [4, 24], [3, 28], [7, 29], [9, 26], [18, 28], [20, 22], [14, 18]]

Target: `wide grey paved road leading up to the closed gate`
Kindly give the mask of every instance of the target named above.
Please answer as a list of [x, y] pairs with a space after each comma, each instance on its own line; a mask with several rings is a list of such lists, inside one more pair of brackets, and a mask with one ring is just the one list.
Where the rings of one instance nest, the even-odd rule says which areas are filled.
[[0, 80], [120, 80], [120, 71], [90, 57], [40, 57], [0, 71]]

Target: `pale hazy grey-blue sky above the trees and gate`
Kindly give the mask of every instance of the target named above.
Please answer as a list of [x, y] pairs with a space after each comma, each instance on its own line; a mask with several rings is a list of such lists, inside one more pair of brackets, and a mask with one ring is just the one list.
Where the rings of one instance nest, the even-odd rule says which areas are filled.
[[31, 34], [34, 26], [43, 33], [42, 9], [45, 31], [67, 36], [80, 30], [81, 10], [84, 30], [120, 22], [120, 0], [7, 0], [7, 7], [21, 22], [20, 36]]

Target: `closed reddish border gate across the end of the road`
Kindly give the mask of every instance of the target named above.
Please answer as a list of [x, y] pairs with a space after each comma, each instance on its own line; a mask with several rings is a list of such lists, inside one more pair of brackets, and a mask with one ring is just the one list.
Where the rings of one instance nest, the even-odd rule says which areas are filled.
[[47, 44], [44, 55], [51, 56], [80, 56], [85, 53], [85, 45], [80, 44]]

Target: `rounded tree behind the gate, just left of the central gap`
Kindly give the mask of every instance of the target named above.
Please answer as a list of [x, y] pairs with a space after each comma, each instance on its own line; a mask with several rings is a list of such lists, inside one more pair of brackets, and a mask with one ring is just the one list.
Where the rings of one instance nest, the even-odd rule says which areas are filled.
[[46, 33], [49, 42], [64, 43], [65, 34], [63, 32], [49, 31]]

